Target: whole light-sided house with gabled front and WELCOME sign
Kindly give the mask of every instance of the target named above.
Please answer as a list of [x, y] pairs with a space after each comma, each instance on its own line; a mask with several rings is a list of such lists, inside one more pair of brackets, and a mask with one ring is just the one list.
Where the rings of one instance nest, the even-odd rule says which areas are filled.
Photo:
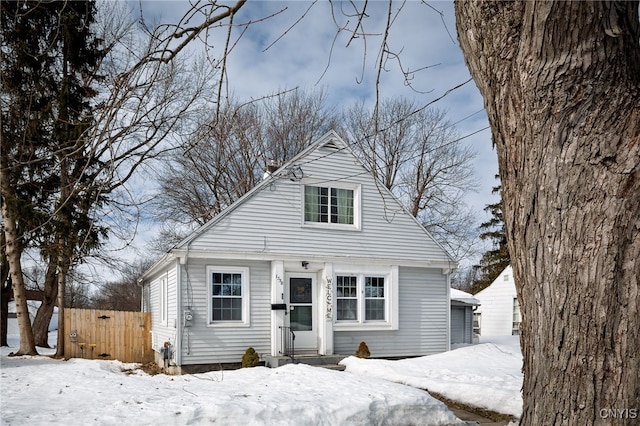
[[[449, 349], [456, 266], [329, 132], [143, 276], [156, 361], [174, 372], [272, 358]], [[295, 336], [295, 340], [293, 340]]]

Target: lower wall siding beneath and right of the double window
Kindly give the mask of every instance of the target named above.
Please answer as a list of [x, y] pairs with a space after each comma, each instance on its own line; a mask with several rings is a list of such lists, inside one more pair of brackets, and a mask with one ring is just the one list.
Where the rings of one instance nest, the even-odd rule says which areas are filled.
[[447, 350], [446, 276], [440, 269], [399, 269], [399, 327], [387, 331], [341, 331], [334, 327], [334, 352], [352, 354], [365, 341], [372, 357], [415, 356]]

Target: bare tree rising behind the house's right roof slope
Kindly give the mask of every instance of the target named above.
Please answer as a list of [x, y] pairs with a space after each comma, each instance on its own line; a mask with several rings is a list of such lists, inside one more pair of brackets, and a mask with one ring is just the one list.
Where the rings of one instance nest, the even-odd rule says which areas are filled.
[[474, 218], [464, 195], [474, 190], [475, 154], [445, 114], [406, 99], [382, 100], [372, 109], [352, 107], [345, 126], [379, 181], [452, 255], [467, 255]]

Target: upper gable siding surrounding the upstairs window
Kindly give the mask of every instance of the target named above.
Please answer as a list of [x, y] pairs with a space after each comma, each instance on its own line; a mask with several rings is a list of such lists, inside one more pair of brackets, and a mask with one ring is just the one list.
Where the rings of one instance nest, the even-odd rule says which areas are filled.
[[[331, 155], [327, 156], [328, 153]], [[323, 157], [324, 161], [315, 161]], [[274, 179], [234, 208], [213, 227], [194, 238], [189, 250], [223, 248], [226, 254], [269, 253], [271, 256], [359, 257], [415, 262], [451, 259], [354, 157], [344, 151], [318, 149], [301, 163], [305, 177]], [[313, 178], [311, 178], [313, 176]], [[359, 232], [345, 226], [305, 224], [304, 186], [348, 185], [359, 188]], [[360, 219], [358, 219], [358, 217]], [[337, 228], [336, 228], [337, 227]]]

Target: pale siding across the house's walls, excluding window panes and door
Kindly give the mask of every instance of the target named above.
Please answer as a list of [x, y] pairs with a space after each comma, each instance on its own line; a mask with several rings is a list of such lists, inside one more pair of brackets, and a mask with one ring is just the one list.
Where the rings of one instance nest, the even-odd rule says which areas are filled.
[[[285, 270], [290, 265], [306, 268], [305, 263], [333, 265], [330, 276], [323, 277], [333, 280], [330, 296], [337, 296], [338, 275], [360, 276], [358, 291], [363, 293], [356, 295], [355, 324], [336, 319], [339, 303], [344, 305], [345, 316], [353, 303], [346, 297], [334, 296], [333, 305], [323, 307], [327, 311], [324, 323], [333, 329], [327, 336], [327, 347], [334, 353], [353, 353], [363, 340], [373, 356], [447, 350], [450, 307], [442, 270], [455, 262], [384, 187], [376, 184], [354, 155], [341, 148], [341, 141], [335, 142], [335, 146], [318, 148], [292, 163], [289, 168], [295, 173], [267, 178], [167, 255], [175, 256], [175, 264], [169, 267], [172, 272], [164, 272], [167, 326], [158, 326], [155, 318], [160, 311], [153, 306], [154, 344], [177, 340], [182, 365], [238, 363], [248, 347], [260, 355], [271, 353], [277, 342], [276, 337], [271, 342], [277, 335], [277, 330], [271, 329], [277, 315], [271, 304], [283, 297], [282, 291], [275, 290], [280, 288], [276, 279], [282, 277], [272, 276], [271, 262], [277, 261], [283, 262]], [[327, 222], [305, 221], [305, 186], [328, 188], [327, 194], [331, 188], [347, 190], [335, 192], [338, 223], [331, 223], [328, 217]], [[349, 223], [349, 191], [353, 191], [353, 224]], [[328, 208], [331, 203], [326, 201]], [[360, 270], [354, 270], [354, 265]], [[246, 309], [242, 326], [216, 326], [212, 321], [214, 295], [208, 267], [228, 268], [231, 273], [247, 271], [241, 295]], [[379, 285], [371, 285], [369, 296], [365, 296], [365, 276], [383, 277], [383, 284], [376, 283], [382, 284], [382, 291]], [[177, 298], [176, 277], [180, 279]], [[159, 291], [153, 286], [158, 275], [154, 272], [148, 278], [151, 290]], [[157, 294], [151, 294], [150, 300], [156, 303]], [[176, 312], [182, 315], [185, 311], [190, 312], [191, 320], [176, 320]]]

